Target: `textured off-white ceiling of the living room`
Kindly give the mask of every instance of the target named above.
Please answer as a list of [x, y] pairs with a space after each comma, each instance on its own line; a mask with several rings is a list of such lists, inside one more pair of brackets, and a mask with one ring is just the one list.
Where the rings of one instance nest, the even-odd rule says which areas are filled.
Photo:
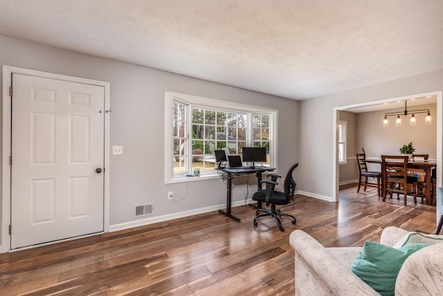
[[443, 69], [442, 0], [0, 0], [0, 34], [296, 100]]

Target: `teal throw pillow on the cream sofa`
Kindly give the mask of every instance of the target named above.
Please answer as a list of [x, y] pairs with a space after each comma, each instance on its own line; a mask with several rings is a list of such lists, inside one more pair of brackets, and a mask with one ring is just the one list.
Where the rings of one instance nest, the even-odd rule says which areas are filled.
[[394, 295], [395, 280], [404, 261], [426, 246], [429, 243], [414, 243], [395, 249], [366, 241], [351, 270], [381, 295]]

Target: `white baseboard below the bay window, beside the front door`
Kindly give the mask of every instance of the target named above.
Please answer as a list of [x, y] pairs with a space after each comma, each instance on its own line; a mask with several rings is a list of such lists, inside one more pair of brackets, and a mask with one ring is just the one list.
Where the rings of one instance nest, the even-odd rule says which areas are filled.
[[[246, 204], [253, 203], [253, 202], [254, 201], [251, 198], [246, 200]], [[244, 204], [245, 204], [244, 200], [233, 201], [231, 206], [237, 207], [239, 205], [244, 205]], [[201, 207], [201, 208], [195, 209], [195, 210], [177, 212], [174, 214], [166, 214], [166, 215], [162, 215], [162, 216], [154, 216], [154, 217], [145, 218], [145, 219], [137, 219], [136, 221], [129, 221], [129, 222], [125, 222], [125, 223], [109, 225], [109, 232], [114, 232], [114, 231], [118, 231], [118, 230], [125, 230], [127, 228], [134, 228], [134, 227], [138, 227], [138, 226], [149, 225], [152, 223], [163, 222], [163, 221], [168, 221], [168, 220], [177, 219], [177, 218], [183, 218], [183, 217], [197, 215], [197, 214], [204, 214], [207, 212], [212, 212], [212, 211], [216, 211], [216, 210], [223, 210], [223, 209], [226, 209], [226, 203], [221, 204], [221, 205], [213, 205], [210, 207]]]

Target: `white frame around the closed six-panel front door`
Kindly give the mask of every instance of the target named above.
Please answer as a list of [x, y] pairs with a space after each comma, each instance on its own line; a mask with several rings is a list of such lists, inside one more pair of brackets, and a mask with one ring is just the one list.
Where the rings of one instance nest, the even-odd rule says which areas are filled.
[[105, 183], [103, 188], [104, 194], [104, 212], [103, 212], [103, 230], [109, 232], [109, 82], [102, 82], [98, 80], [90, 80], [80, 77], [59, 75], [54, 73], [47, 73], [42, 71], [35, 71], [26, 68], [17, 68], [13, 66], [3, 65], [3, 154], [1, 165], [1, 245], [0, 252], [10, 251], [10, 234], [9, 225], [11, 221], [11, 175], [9, 156], [11, 155], [11, 97], [10, 84], [12, 73], [32, 75], [37, 77], [44, 77], [54, 80], [64, 80], [66, 82], [77, 82], [82, 84], [91, 84], [96, 86], [103, 86], [105, 89]]

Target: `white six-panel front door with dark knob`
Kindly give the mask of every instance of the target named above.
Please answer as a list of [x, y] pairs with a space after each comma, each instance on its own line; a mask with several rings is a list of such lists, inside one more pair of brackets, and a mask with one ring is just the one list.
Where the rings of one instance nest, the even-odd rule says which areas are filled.
[[103, 231], [105, 89], [12, 74], [11, 249]]

